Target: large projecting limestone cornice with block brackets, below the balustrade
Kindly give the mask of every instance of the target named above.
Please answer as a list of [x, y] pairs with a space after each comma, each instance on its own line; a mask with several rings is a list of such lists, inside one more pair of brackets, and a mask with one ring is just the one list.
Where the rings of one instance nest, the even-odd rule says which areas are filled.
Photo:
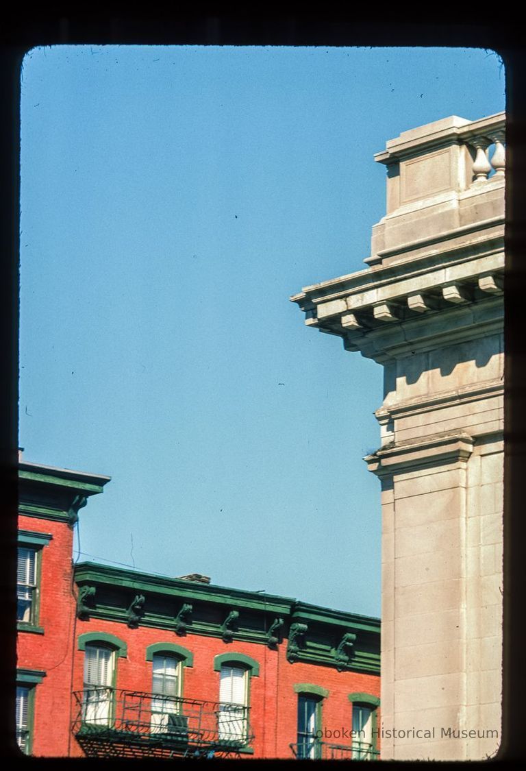
[[307, 288], [292, 301], [305, 323], [385, 362], [503, 328], [502, 234], [491, 241], [360, 271]]

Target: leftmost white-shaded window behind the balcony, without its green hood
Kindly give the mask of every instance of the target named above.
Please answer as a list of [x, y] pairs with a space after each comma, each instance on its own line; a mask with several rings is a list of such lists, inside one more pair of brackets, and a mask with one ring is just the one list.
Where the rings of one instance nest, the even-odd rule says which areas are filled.
[[85, 646], [84, 700], [85, 723], [109, 726], [112, 721], [115, 651], [105, 645]]

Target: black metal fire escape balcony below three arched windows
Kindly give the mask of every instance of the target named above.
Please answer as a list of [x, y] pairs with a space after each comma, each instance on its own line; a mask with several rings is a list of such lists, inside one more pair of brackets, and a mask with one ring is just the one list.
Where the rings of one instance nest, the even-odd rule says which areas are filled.
[[77, 691], [72, 731], [88, 757], [232, 757], [250, 744], [248, 707], [141, 691]]

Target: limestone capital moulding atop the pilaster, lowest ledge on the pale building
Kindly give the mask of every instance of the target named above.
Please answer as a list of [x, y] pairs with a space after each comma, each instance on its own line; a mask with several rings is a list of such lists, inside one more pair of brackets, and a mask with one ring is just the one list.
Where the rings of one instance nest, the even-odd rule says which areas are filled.
[[465, 462], [473, 452], [474, 440], [467, 433], [435, 435], [425, 442], [411, 440], [397, 446], [384, 446], [365, 456], [370, 471], [376, 476], [391, 476], [422, 466]]

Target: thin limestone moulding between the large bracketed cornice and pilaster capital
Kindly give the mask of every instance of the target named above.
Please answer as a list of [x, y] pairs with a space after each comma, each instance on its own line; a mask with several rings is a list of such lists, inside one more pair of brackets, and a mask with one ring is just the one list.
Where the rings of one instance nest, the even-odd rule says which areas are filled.
[[501, 379], [490, 380], [477, 386], [465, 385], [464, 388], [442, 391], [431, 397], [419, 396], [414, 399], [383, 405], [374, 412], [374, 415], [378, 423], [387, 423], [391, 419], [421, 415], [454, 404], [468, 404], [488, 397], [496, 399], [504, 397], [504, 382]]

